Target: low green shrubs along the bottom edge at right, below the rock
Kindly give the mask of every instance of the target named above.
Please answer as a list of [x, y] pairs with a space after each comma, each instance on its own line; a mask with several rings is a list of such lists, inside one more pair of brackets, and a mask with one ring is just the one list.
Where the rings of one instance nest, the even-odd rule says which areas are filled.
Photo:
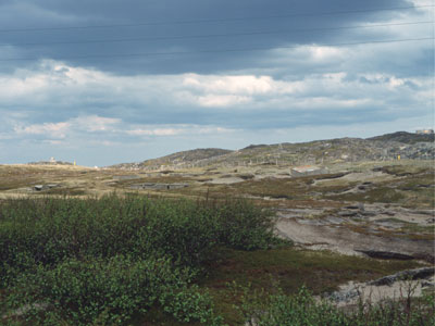
[[[282, 291], [243, 289], [239, 312], [250, 326], [432, 326], [435, 323], [435, 297], [427, 294], [423, 302], [410, 305], [418, 299], [386, 300], [380, 303], [360, 301], [357, 310], [345, 312], [330, 301], [315, 299], [306, 288], [286, 296]], [[419, 302], [419, 301], [418, 301]]]

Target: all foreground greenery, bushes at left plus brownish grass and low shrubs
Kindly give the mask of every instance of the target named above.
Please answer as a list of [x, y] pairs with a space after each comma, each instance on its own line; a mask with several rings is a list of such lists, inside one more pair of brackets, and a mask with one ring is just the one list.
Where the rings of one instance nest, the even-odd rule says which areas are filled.
[[[345, 314], [319, 303], [308, 290], [300, 292], [302, 285], [314, 294], [331, 292], [344, 280], [368, 280], [419, 264], [298, 250], [274, 236], [273, 223], [270, 211], [243, 200], [115, 195], [3, 200], [0, 321], [151, 326], [433, 322], [427, 303]], [[261, 289], [266, 290], [258, 296]]]

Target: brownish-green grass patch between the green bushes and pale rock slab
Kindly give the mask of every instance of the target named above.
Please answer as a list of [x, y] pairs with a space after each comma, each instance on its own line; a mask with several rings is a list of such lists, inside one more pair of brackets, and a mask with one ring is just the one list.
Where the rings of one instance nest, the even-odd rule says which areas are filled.
[[240, 298], [227, 286], [233, 281], [254, 290], [266, 289], [266, 293], [281, 288], [285, 294], [295, 294], [306, 285], [314, 294], [321, 294], [349, 280], [366, 281], [418, 266], [420, 264], [413, 261], [378, 261], [296, 248], [225, 250], [222, 259], [208, 267], [210, 273], [200, 286], [214, 298], [215, 310], [224, 316], [225, 323], [244, 325], [234, 306], [240, 303]]

